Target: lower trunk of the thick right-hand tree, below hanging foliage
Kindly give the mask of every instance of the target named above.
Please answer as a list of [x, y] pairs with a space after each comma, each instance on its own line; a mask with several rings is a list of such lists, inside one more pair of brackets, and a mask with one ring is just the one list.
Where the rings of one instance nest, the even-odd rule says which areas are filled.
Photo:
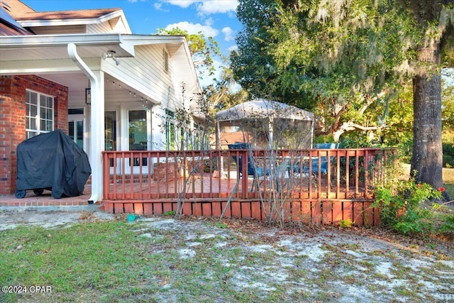
[[[435, 57], [439, 53], [434, 52]], [[435, 58], [435, 62], [437, 62]], [[428, 70], [428, 69], [427, 69]], [[441, 74], [413, 78], [413, 155], [411, 175], [417, 182], [443, 185], [443, 145], [441, 141]]]

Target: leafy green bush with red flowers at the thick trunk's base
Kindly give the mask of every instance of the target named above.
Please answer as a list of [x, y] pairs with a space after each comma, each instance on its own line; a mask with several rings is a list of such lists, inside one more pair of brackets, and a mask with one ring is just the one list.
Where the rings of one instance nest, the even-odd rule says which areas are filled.
[[400, 233], [435, 231], [436, 213], [429, 206], [432, 199], [441, 199], [441, 192], [426, 183], [398, 181], [391, 186], [377, 187], [373, 207], [381, 207], [382, 222]]

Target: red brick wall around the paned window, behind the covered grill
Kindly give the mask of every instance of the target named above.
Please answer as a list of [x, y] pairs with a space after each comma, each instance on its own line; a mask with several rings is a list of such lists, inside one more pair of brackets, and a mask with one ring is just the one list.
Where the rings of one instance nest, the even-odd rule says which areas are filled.
[[0, 77], [0, 194], [16, 190], [16, 147], [26, 139], [26, 89], [54, 97], [54, 128], [67, 133], [68, 88], [34, 75]]

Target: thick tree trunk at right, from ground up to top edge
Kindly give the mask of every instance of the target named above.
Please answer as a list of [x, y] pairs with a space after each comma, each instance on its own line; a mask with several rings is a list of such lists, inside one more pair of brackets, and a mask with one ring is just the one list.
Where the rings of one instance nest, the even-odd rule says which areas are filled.
[[[452, 55], [453, 0], [402, 0], [416, 26], [425, 32], [417, 45], [413, 77], [413, 154], [411, 172], [416, 180], [443, 185], [441, 141], [441, 57]], [[452, 58], [449, 58], [453, 60]]]

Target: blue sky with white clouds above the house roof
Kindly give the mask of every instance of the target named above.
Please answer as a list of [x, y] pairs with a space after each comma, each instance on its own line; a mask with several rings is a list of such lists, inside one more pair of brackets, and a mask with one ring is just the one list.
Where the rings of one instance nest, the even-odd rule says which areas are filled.
[[[131, 31], [150, 35], [157, 28], [201, 31], [214, 37], [223, 55], [236, 48], [235, 35], [242, 25], [236, 18], [237, 0], [21, 0], [35, 11], [123, 9]], [[215, 62], [221, 65], [221, 61]], [[206, 83], [202, 83], [206, 84]]]

